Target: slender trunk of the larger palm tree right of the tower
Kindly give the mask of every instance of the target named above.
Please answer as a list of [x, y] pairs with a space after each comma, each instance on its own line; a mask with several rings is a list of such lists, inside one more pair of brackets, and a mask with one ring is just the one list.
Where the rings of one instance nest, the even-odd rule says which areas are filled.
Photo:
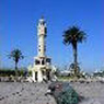
[[73, 62], [74, 62], [74, 76], [78, 74], [78, 47], [77, 47], [77, 43], [73, 44]]

